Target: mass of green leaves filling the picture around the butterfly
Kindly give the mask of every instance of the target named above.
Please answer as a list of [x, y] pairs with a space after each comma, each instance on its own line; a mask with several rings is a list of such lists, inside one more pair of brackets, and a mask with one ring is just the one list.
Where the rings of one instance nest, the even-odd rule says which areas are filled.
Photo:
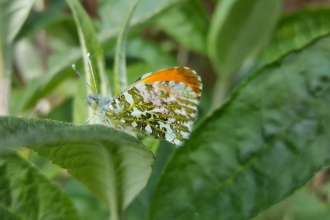
[[[329, 8], [33, 3], [0, 1], [0, 81], [12, 81], [11, 116], [0, 117], [0, 219], [328, 218]], [[94, 87], [111, 97], [176, 65], [204, 85], [183, 147], [81, 125]]]

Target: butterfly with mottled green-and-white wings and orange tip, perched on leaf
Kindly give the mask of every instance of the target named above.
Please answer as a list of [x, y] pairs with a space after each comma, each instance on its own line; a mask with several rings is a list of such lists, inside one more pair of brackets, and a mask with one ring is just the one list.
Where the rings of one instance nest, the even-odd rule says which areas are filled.
[[181, 146], [192, 131], [201, 92], [194, 70], [174, 67], [143, 75], [112, 99], [90, 94], [86, 103], [102, 124]]

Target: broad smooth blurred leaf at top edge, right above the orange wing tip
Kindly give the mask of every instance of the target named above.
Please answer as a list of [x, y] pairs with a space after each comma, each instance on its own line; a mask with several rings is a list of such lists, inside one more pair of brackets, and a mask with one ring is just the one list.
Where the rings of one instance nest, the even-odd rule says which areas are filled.
[[266, 43], [282, 1], [220, 0], [211, 21], [208, 52], [219, 77], [228, 79]]

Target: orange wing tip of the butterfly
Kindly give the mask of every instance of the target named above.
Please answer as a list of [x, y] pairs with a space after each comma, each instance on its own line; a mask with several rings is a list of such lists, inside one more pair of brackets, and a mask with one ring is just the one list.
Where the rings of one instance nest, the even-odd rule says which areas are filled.
[[175, 81], [182, 82], [192, 88], [197, 97], [201, 96], [202, 80], [196, 71], [188, 67], [174, 67], [157, 71], [146, 78], [142, 79], [146, 84], [159, 81]]

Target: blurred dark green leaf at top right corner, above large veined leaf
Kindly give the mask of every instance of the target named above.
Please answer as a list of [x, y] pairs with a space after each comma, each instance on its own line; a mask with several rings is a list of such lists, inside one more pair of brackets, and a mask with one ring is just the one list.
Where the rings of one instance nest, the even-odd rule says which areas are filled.
[[329, 19], [329, 8], [306, 8], [283, 16], [260, 59], [266, 63], [272, 62], [329, 34]]

